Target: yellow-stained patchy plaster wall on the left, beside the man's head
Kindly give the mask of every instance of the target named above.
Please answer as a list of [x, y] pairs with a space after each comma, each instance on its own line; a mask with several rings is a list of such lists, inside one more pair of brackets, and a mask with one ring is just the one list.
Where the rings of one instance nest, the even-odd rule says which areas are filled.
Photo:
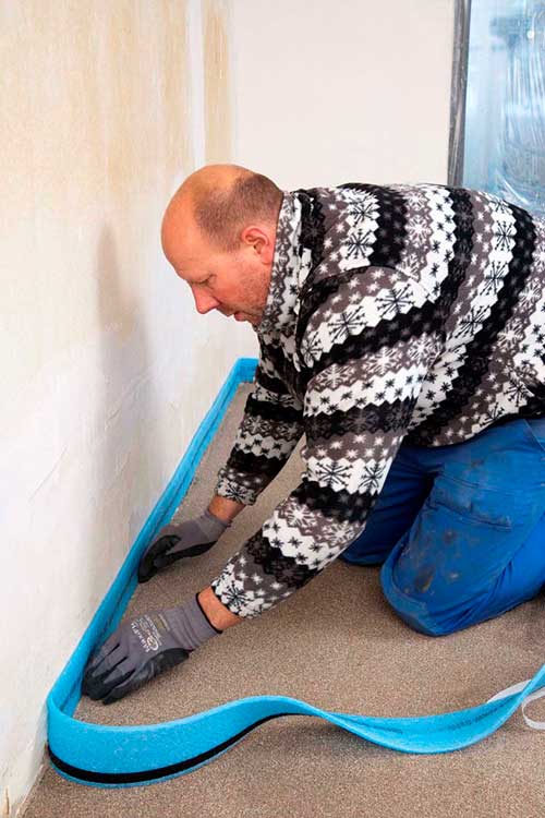
[[250, 326], [196, 312], [160, 245], [205, 143], [231, 158], [226, 9], [205, 11], [0, 0], [0, 815], [36, 777], [52, 683], [255, 353]]

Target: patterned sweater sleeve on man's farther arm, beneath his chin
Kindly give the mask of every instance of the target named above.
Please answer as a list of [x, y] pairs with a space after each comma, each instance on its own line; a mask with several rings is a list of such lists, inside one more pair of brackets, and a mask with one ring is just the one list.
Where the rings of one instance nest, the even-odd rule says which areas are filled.
[[283, 468], [302, 434], [303, 405], [262, 346], [254, 388], [227, 464], [218, 472], [216, 494], [253, 505]]

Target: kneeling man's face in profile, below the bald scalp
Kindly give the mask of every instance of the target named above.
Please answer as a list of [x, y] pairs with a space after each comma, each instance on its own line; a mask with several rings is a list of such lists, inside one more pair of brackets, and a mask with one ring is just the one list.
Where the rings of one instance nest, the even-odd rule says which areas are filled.
[[[254, 228], [247, 228], [254, 231]], [[257, 326], [263, 316], [270, 284], [274, 236], [250, 232], [240, 249], [225, 253], [210, 245], [193, 219], [167, 212], [161, 238], [165, 255], [177, 275], [191, 287], [202, 315], [218, 310]]]

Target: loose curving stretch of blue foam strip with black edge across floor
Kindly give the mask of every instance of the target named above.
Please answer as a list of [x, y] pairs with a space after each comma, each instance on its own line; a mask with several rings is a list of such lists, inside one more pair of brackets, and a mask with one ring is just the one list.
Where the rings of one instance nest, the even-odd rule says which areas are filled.
[[[68, 779], [99, 786], [142, 785], [209, 763], [259, 724], [281, 715], [317, 715], [368, 742], [404, 753], [448, 753], [494, 733], [543, 686], [545, 665], [526, 683], [483, 705], [435, 715], [358, 715], [320, 710], [284, 696], [254, 696], [177, 721], [136, 726], [77, 721], [51, 698], [48, 753], [53, 767]], [[514, 688], [518, 691], [510, 693]], [[545, 690], [538, 694], [544, 695]]]

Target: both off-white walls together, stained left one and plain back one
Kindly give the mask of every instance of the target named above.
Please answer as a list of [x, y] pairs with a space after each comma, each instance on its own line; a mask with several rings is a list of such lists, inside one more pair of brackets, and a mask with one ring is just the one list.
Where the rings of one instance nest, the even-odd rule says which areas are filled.
[[210, 161], [284, 189], [446, 181], [452, 20], [453, 0], [0, 0], [0, 814], [39, 770], [55, 679], [257, 354], [164, 258], [170, 195]]

